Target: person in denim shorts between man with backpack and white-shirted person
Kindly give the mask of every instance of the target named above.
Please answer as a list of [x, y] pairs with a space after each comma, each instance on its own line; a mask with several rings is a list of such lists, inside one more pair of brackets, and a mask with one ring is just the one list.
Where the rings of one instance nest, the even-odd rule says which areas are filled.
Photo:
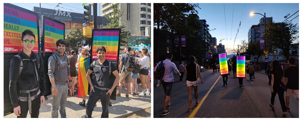
[[[133, 57], [135, 57], [135, 56], [136, 56], [136, 52], [133, 50], [133, 51], [131, 52], [131, 55], [132, 55]], [[136, 58], [135, 58], [135, 63], [138, 64], [138, 59], [136, 59]], [[135, 96], [135, 95], [138, 96], [138, 95], [139, 95], [139, 94], [137, 93], [137, 91], [138, 91], [137, 78], [138, 78], [138, 74], [133, 74], [133, 73], [131, 72], [131, 95], [132, 95], [132, 96]], [[134, 93], [133, 88], [135, 88], [135, 93]]]

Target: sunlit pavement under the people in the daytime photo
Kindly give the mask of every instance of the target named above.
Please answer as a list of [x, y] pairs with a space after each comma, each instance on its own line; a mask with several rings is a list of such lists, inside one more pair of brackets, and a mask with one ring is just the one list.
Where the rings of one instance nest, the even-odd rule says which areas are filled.
[[[138, 92], [142, 92], [141, 84], [138, 85]], [[118, 88], [117, 88], [118, 92]], [[143, 111], [146, 114], [141, 115], [140, 118], [149, 117], [151, 116], [150, 112], [146, 112], [145, 109], [151, 107], [151, 96], [147, 95], [139, 95], [139, 96], [131, 96], [126, 98], [124, 94], [126, 94], [126, 90], [122, 89], [121, 97], [116, 98], [116, 100], [112, 100], [112, 107], [109, 107], [109, 118], [118, 118], [118, 117], [127, 117], [127, 114], [132, 114], [138, 111]], [[130, 90], [131, 92], [131, 90]], [[51, 102], [52, 102], [52, 95], [47, 96], [48, 100], [40, 107], [40, 115], [39, 118], [50, 118], [51, 117]], [[89, 100], [89, 96], [87, 96], [86, 103]], [[68, 94], [67, 103], [66, 103], [66, 117], [67, 118], [80, 118], [85, 115], [85, 108], [79, 105], [79, 102], [82, 102], [82, 98], [78, 98], [77, 93], [75, 96], [70, 96]], [[101, 101], [99, 100], [97, 106], [94, 108], [92, 112], [93, 118], [100, 118], [102, 113], [102, 105]], [[59, 113], [59, 112], [58, 112]], [[17, 116], [14, 113], [4, 116], [4, 118], [16, 118]], [[27, 114], [27, 118], [30, 118], [30, 114]], [[59, 113], [60, 117], [60, 113]]]

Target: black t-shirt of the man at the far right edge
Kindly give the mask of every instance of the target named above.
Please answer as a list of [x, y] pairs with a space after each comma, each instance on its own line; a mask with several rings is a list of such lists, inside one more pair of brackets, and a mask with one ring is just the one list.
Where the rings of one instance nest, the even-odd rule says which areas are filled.
[[291, 66], [285, 69], [284, 77], [288, 78], [286, 87], [291, 90], [299, 90], [299, 68]]

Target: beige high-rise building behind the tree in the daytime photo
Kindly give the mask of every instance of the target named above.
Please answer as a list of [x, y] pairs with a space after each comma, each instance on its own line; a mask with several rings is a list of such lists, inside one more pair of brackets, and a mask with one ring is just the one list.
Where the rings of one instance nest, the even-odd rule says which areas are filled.
[[118, 5], [124, 11], [120, 25], [125, 24], [125, 31], [132, 36], [146, 36], [146, 28], [151, 27], [151, 3], [101, 3], [101, 16], [112, 15], [111, 5]]

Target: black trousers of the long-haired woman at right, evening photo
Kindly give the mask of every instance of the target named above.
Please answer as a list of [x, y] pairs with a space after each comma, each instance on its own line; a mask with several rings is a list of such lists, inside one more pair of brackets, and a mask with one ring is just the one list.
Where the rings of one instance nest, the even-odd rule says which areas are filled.
[[[273, 85], [272, 85], [273, 86]], [[275, 102], [275, 96], [278, 93], [279, 101], [281, 104], [281, 108], [283, 112], [286, 112], [286, 106], [285, 106], [285, 101], [284, 101], [284, 91], [280, 88], [274, 89], [274, 93], [271, 93], [271, 104], [274, 105]]]

